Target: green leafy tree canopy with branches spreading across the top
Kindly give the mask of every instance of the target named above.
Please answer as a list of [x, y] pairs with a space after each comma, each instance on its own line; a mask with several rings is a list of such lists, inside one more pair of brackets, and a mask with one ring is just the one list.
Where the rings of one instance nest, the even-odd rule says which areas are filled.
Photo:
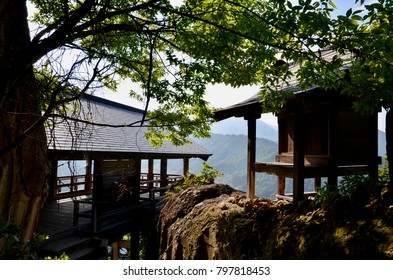
[[[392, 106], [390, 0], [365, 6], [354, 0], [359, 9], [337, 18], [330, 0], [32, 2], [41, 26], [32, 38], [36, 68], [77, 89], [75, 96], [116, 90], [122, 79], [138, 83], [130, 95], [159, 104], [148, 114], [155, 144], [208, 135], [208, 83], [260, 85], [273, 108], [290, 96], [281, 89], [295, 78], [301, 88], [341, 89], [359, 110]], [[318, 52], [324, 49], [337, 55], [325, 60]], [[296, 72], [289, 63], [298, 65]]]

